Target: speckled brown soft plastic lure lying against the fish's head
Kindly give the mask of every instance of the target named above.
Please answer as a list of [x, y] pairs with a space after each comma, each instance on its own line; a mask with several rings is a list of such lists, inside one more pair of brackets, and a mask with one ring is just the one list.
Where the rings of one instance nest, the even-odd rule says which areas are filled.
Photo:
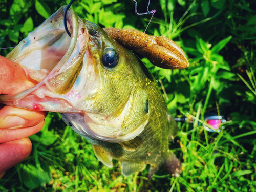
[[189, 66], [183, 50], [173, 40], [164, 36], [150, 36], [135, 29], [104, 28], [119, 44], [133, 50], [155, 66], [164, 69], [182, 69]]

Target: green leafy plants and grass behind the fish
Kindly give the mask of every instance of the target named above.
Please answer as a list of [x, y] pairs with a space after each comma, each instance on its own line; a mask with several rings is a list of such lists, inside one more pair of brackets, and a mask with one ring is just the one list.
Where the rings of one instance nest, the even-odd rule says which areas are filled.
[[[0, 47], [13, 47], [69, 1], [0, 0]], [[145, 12], [147, 0], [138, 1]], [[137, 17], [130, 0], [76, 0], [77, 14], [102, 27], [141, 31], [150, 19]], [[147, 34], [177, 42], [190, 62], [165, 70], [142, 58], [157, 79], [179, 134], [170, 148], [182, 162], [175, 178], [159, 170], [124, 177], [120, 165], [102, 165], [89, 142], [49, 113], [30, 137], [33, 151], [0, 180], [0, 191], [256, 191], [256, 1], [152, 0], [156, 9]], [[11, 49], [0, 50], [5, 56]], [[224, 115], [218, 132], [204, 118]], [[194, 123], [189, 123], [194, 120]]]

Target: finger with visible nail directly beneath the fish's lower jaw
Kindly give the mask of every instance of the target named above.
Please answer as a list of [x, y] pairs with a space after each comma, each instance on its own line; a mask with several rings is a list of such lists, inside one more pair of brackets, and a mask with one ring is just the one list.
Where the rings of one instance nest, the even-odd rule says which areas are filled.
[[0, 110], [0, 129], [34, 126], [45, 119], [47, 112], [4, 106]]

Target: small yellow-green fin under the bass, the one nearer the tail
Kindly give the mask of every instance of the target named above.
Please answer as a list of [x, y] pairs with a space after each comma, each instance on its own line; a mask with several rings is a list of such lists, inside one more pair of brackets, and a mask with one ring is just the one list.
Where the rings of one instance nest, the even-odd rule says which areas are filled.
[[123, 161], [121, 164], [121, 170], [123, 175], [125, 176], [129, 176], [134, 172], [141, 172], [145, 168], [146, 168], [146, 164], [141, 162]]

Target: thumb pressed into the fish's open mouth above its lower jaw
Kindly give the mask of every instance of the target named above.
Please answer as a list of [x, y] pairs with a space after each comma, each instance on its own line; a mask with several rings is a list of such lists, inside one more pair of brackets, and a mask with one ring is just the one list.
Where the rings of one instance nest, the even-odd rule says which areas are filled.
[[[0, 93], [14, 95], [23, 90], [34, 87], [36, 82], [27, 75], [28, 68], [0, 56]], [[32, 82], [31, 82], [32, 81]]]

